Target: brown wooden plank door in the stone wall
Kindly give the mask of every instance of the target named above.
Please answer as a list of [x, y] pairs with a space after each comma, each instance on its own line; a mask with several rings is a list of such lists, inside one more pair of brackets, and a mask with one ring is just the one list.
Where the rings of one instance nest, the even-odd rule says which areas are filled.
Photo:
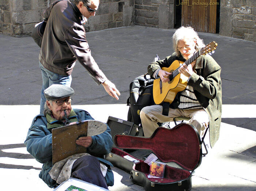
[[[180, 0], [181, 2], [181, 0]], [[216, 33], [217, 0], [182, 0], [181, 25]]]

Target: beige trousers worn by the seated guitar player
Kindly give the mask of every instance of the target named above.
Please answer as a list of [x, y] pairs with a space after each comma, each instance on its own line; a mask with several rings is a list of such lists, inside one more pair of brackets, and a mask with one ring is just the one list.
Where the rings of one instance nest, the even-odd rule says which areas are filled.
[[146, 106], [140, 111], [140, 119], [145, 137], [150, 137], [159, 126], [157, 122], [173, 121], [174, 117], [189, 117], [188, 124], [195, 126], [202, 139], [209, 124], [208, 114], [204, 109], [169, 109], [168, 116], [162, 114], [161, 105]]

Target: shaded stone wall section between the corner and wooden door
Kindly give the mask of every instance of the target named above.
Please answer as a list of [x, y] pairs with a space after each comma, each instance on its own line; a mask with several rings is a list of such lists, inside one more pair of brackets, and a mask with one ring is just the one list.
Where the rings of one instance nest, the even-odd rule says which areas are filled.
[[134, 0], [134, 24], [155, 28], [174, 27], [174, 0]]

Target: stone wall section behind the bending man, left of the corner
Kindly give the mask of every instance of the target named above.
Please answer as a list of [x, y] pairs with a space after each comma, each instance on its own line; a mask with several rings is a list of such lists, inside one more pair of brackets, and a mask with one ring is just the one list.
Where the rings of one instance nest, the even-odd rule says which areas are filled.
[[[42, 13], [55, 0], [0, 0], [0, 33], [29, 35]], [[98, 11], [84, 24], [87, 32], [133, 24], [133, 0], [101, 0]]]

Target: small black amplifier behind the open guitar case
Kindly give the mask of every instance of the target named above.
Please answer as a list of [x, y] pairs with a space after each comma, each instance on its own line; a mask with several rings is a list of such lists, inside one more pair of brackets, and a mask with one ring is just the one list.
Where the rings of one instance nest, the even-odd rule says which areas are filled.
[[131, 136], [143, 136], [142, 127], [134, 124], [130, 121], [118, 119], [116, 117], [109, 116], [107, 124], [111, 129], [111, 136], [114, 143], [114, 137], [117, 134], [131, 135]]

